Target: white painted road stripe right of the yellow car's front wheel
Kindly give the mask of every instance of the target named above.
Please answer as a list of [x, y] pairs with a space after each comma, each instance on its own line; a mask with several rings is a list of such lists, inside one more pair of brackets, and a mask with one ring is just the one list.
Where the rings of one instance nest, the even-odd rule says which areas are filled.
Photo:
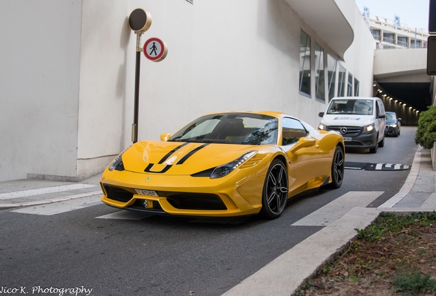
[[350, 191], [334, 201], [326, 204], [315, 212], [308, 214], [292, 226], [326, 226], [349, 212], [352, 208], [365, 208], [374, 199], [383, 194], [383, 191]]

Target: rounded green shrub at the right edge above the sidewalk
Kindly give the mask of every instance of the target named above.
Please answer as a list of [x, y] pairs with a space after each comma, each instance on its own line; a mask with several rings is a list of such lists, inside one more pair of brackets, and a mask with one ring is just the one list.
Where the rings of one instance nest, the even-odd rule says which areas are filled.
[[428, 110], [420, 114], [415, 134], [415, 144], [425, 149], [432, 149], [436, 142], [436, 106], [428, 107]]

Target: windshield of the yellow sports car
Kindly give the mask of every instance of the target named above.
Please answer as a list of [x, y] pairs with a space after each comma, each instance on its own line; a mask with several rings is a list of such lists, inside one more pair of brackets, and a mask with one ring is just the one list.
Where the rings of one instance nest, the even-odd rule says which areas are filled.
[[230, 143], [243, 145], [277, 144], [278, 120], [252, 113], [223, 113], [202, 116], [174, 134], [169, 141]]

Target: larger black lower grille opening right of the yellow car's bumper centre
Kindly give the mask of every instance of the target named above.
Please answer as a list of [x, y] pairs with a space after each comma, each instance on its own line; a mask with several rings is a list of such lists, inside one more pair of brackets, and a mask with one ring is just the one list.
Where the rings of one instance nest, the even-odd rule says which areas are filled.
[[217, 195], [207, 193], [176, 193], [169, 195], [167, 201], [180, 210], [227, 210]]

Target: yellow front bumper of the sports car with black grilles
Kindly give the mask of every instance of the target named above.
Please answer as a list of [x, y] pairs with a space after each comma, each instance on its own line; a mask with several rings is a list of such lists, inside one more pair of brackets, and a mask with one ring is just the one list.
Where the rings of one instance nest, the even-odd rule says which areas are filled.
[[189, 175], [151, 175], [149, 182], [147, 177], [150, 175], [105, 171], [101, 201], [125, 210], [185, 217], [235, 217], [261, 210], [261, 175], [245, 178], [244, 184], [230, 178], [210, 180]]

